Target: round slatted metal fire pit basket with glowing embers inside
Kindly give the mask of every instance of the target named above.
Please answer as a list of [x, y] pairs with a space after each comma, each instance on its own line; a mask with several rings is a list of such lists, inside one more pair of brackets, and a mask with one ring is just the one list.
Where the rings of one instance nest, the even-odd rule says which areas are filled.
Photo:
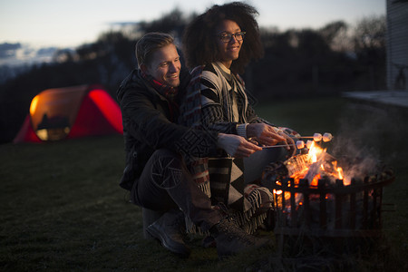
[[[393, 182], [393, 170], [355, 178], [345, 186], [343, 180], [287, 178], [283, 163], [269, 165], [262, 184], [273, 192], [276, 235], [307, 235], [319, 238], [377, 237], [381, 234], [383, 188]], [[286, 197], [285, 197], [286, 196]]]

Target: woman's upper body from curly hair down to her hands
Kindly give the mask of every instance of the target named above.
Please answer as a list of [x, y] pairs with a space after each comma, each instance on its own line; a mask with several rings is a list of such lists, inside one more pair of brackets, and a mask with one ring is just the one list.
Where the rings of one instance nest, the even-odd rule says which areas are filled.
[[263, 55], [255, 15], [257, 10], [244, 3], [214, 5], [187, 26], [183, 53], [187, 66], [200, 75], [202, 125], [268, 146], [284, 143], [294, 151], [287, 133], [257, 117], [238, 75]]

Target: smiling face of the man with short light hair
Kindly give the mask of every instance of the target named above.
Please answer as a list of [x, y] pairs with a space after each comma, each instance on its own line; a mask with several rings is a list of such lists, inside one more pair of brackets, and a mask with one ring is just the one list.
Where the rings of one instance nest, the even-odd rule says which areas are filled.
[[141, 70], [144, 73], [171, 87], [180, 85], [180, 69], [180, 56], [174, 44], [156, 50], [151, 55], [150, 63], [141, 65]]

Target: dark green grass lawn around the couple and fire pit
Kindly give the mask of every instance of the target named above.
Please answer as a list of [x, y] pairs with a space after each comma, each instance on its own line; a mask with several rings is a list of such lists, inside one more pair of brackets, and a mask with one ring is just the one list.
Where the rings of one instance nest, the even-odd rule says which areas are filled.
[[[360, 271], [408, 270], [408, 109], [397, 111], [339, 98], [276, 102], [259, 116], [303, 135], [331, 132], [329, 152], [359, 153], [392, 166], [396, 180], [384, 189], [384, 238], [371, 256], [341, 256]], [[191, 238], [191, 256], [171, 255], [142, 235], [141, 209], [118, 186], [124, 163], [121, 136], [44, 144], [0, 145], [1, 271], [292, 271], [277, 249], [220, 261], [215, 248]], [[387, 206], [389, 207], [389, 206]], [[387, 208], [390, 209], [390, 208]], [[273, 233], [269, 233], [273, 238]], [[329, 271], [325, 261], [310, 265]], [[341, 266], [336, 266], [341, 270]], [[330, 271], [333, 271], [330, 270]]]

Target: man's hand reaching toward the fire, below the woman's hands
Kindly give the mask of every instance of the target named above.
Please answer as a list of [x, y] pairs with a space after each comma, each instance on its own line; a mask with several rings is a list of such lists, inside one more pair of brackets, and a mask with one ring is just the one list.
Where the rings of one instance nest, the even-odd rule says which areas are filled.
[[262, 148], [235, 134], [219, 133], [219, 148], [235, 158], [246, 158]]

